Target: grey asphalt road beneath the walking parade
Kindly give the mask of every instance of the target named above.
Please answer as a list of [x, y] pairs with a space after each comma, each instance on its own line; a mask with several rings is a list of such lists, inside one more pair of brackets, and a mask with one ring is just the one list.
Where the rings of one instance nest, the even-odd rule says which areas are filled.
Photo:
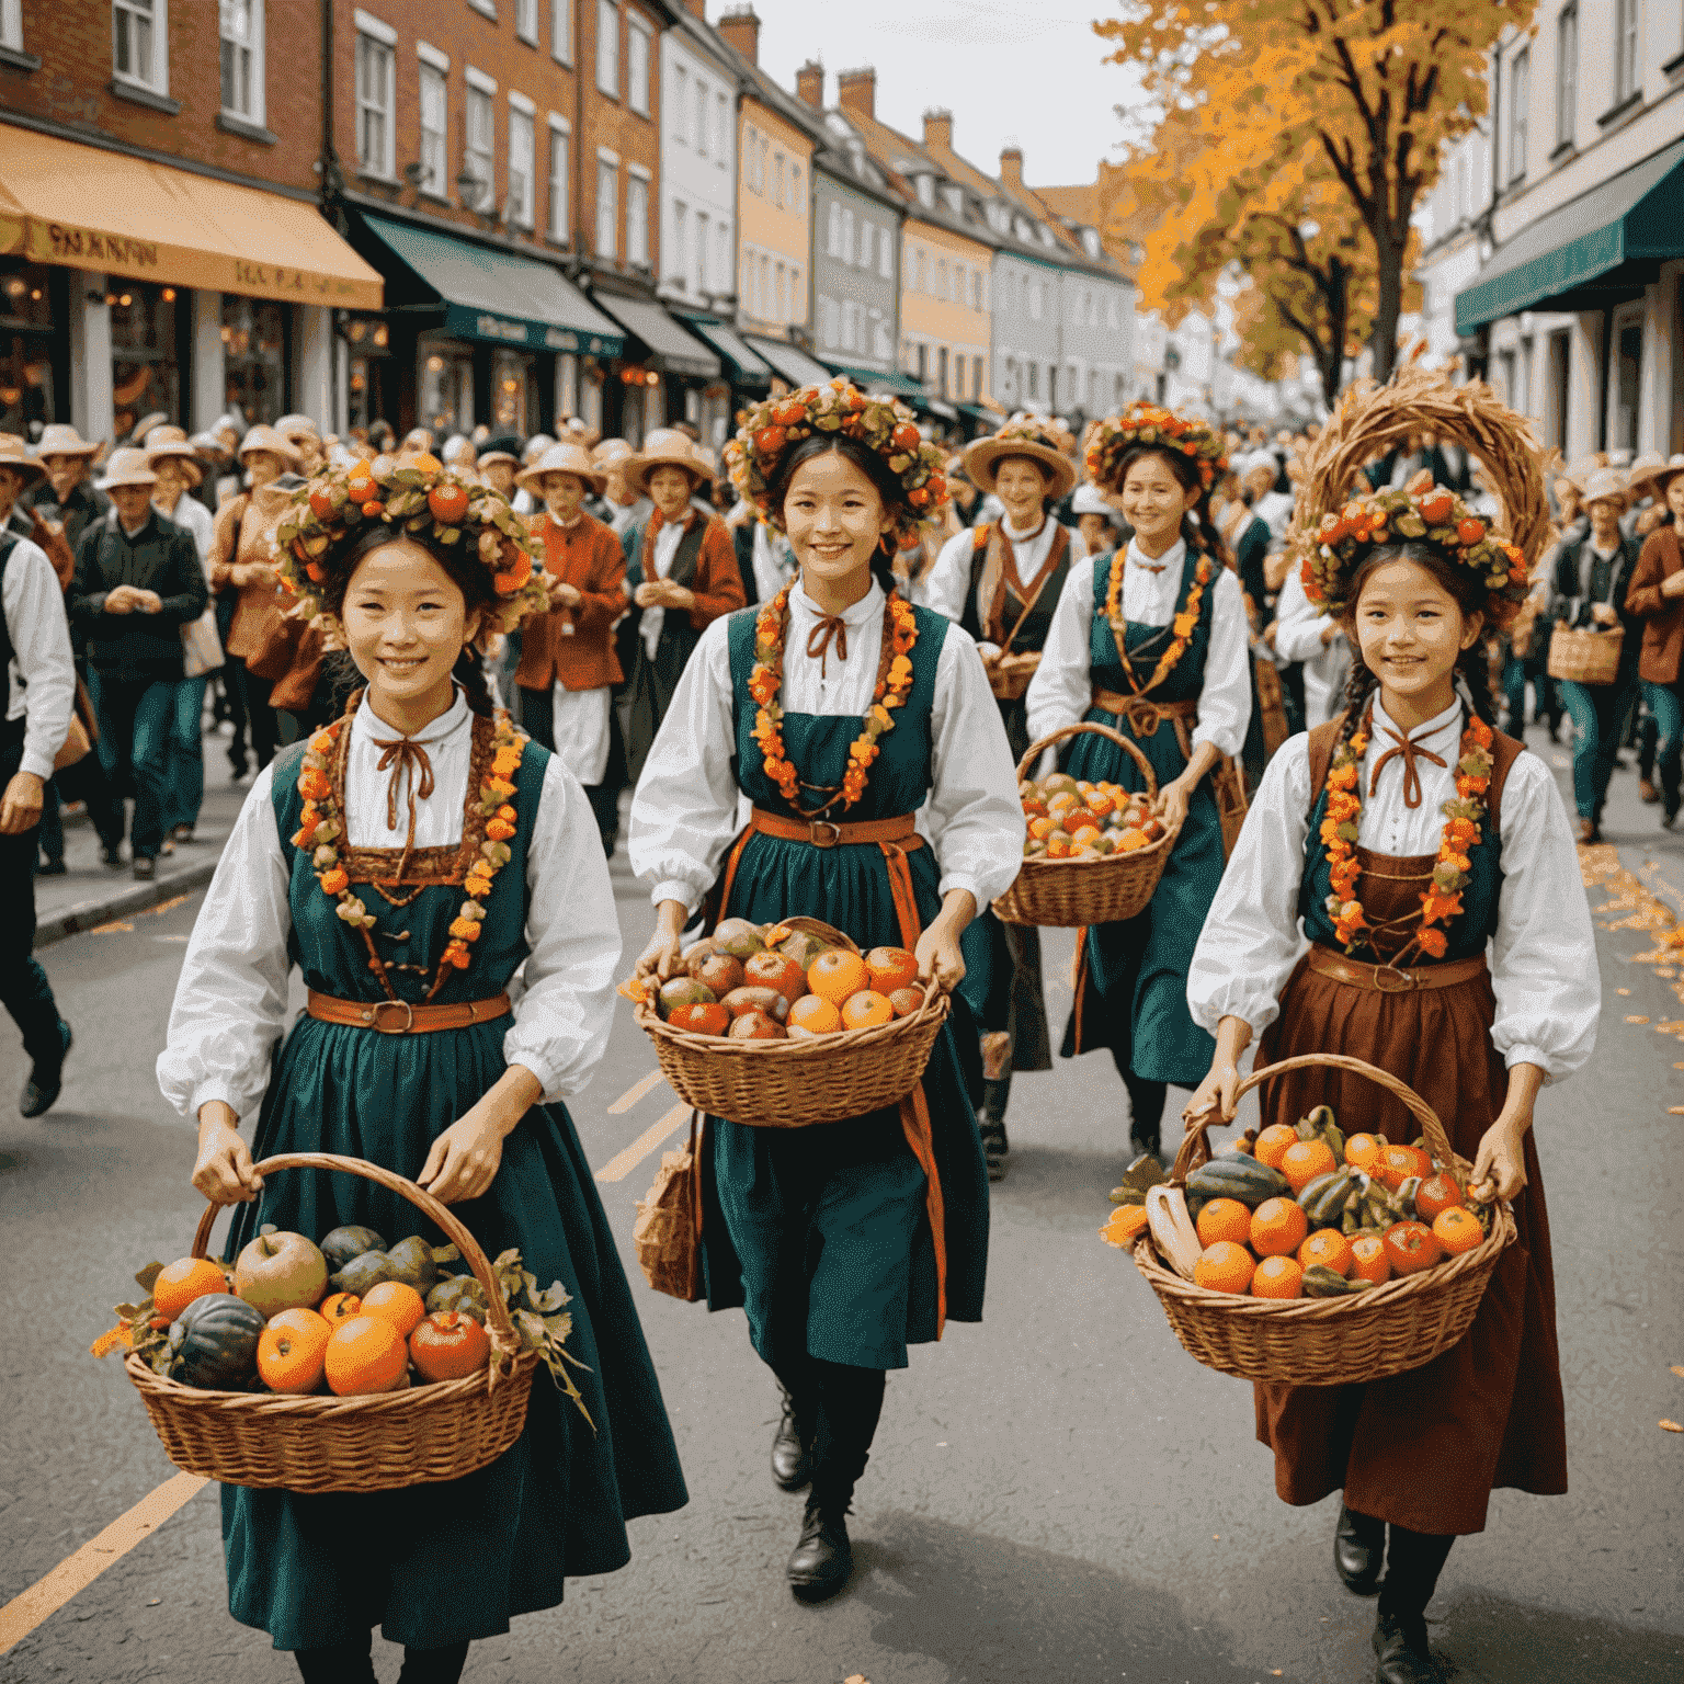
[[[1654, 815], [1632, 783], [1622, 775], [1608, 830], [1649, 840]], [[1665, 894], [1674, 876], [1684, 887], [1679, 847], [1667, 837], [1649, 864], [1633, 849], [1623, 857]], [[630, 951], [648, 911], [623, 855], [615, 886]], [[1593, 889], [1591, 904], [1605, 901]], [[77, 1032], [66, 1093], [39, 1122], [5, 1115], [10, 1103], [0, 1111], [0, 1603], [172, 1474], [116, 1359], [86, 1351], [130, 1271], [185, 1251], [199, 1214], [192, 1135], [152, 1076], [195, 906], [45, 955]], [[1598, 931], [1607, 1010], [1595, 1063], [1539, 1105], [1573, 1490], [1497, 1494], [1490, 1527], [1450, 1556], [1435, 1644], [1468, 1684], [1684, 1677], [1684, 1436], [1657, 1428], [1684, 1418], [1684, 1379], [1669, 1372], [1684, 1364], [1684, 1116], [1669, 1113], [1684, 1106], [1684, 1047], [1655, 1029], [1681, 1015], [1671, 982], [1628, 962], [1650, 943], [1637, 928]], [[1063, 978], [1068, 940], [1047, 946], [1047, 975]], [[1054, 983], [1056, 1017], [1066, 1002]], [[24, 1064], [3, 1026], [0, 1042], [10, 1095]], [[650, 1068], [621, 1010], [574, 1108], [593, 1165], [672, 1105], [657, 1086], [610, 1115]], [[1372, 1677], [1372, 1603], [1347, 1596], [1327, 1559], [1335, 1500], [1295, 1511], [1275, 1499], [1250, 1389], [1187, 1357], [1128, 1258], [1096, 1239], [1127, 1140], [1108, 1059], [1021, 1079], [1012, 1122], [989, 1320], [950, 1329], [891, 1376], [857, 1497], [857, 1575], [822, 1608], [797, 1605], [783, 1583], [802, 1499], [766, 1474], [776, 1394], [741, 1314], [707, 1315], [642, 1287], [630, 1231], [653, 1159], [601, 1186], [692, 1500], [633, 1522], [626, 1569], [574, 1581], [562, 1608], [475, 1645], [470, 1684]], [[1453, 1470], [1421, 1470], [1443, 1477]], [[376, 1657], [396, 1677], [397, 1652], [377, 1644]], [[280, 1684], [296, 1672], [226, 1613], [214, 1490], [0, 1657], [0, 1684], [227, 1677]]]

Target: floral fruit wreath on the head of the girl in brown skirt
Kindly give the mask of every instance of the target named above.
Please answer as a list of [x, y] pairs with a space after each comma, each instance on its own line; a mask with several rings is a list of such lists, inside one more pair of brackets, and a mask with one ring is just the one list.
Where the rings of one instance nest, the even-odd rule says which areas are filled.
[[1526, 601], [1526, 556], [1497, 537], [1455, 492], [1425, 470], [1396, 490], [1329, 509], [1300, 562], [1303, 594], [1335, 620], [1351, 606], [1351, 583], [1384, 546], [1420, 544], [1485, 588], [1485, 618], [1505, 626]]

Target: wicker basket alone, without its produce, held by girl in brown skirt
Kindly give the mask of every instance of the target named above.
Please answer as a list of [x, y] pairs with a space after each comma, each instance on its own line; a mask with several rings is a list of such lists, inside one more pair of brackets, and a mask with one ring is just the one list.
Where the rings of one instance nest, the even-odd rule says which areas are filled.
[[[1354, 1071], [1396, 1095], [1420, 1122], [1433, 1159], [1467, 1174], [1467, 1159], [1450, 1150], [1433, 1108], [1362, 1059], [1334, 1052], [1282, 1059], [1248, 1076], [1238, 1093], [1312, 1066]], [[1206, 1132], [1216, 1120], [1212, 1115], [1189, 1130], [1175, 1154], [1172, 1186], [1184, 1186], [1189, 1170], [1209, 1159]], [[1159, 1260], [1150, 1233], [1135, 1241], [1135, 1263], [1159, 1295], [1175, 1337], [1206, 1367], [1287, 1386], [1354, 1386], [1421, 1367], [1462, 1339], [1497, 1258], [1514, 1238], [1514, 1214], [1499, 1204], [1490, 1236], [1472, 1251], [1344, 1298], [1251, 1298], [1196, 1287]]]

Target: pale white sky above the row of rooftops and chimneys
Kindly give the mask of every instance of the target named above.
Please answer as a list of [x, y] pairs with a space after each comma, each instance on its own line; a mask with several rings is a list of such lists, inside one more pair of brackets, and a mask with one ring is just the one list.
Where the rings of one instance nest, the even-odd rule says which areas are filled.
[[[717, 22], [724, 10], [709, 0]], [[805, 59], [825, 67], [825, 103], [839, 71], [872, 64], [877, 118], [913, 138], [923, 113], [953, 113], [953, 150], [989, 175], [1000, 147], [1024, 148], [1031, 187], [1091, 182], [1115, 158], [1123, 128], [1115, 106], [1130, 76], [1101, 64], [1108, 44], [1091, 22], [1111, 0], [754, 0], [759, 62], [795, 89]]]

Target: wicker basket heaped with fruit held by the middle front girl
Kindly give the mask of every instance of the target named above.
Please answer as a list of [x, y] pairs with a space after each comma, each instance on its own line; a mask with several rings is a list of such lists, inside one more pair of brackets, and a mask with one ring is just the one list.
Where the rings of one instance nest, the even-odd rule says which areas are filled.
[[628, 983], [674, 1091], [699, 1111], [805, 1128], [899, 1105], [948, 997], [904, 948], [859, 946], [817, 918], [727, 918], [657, 989]]

